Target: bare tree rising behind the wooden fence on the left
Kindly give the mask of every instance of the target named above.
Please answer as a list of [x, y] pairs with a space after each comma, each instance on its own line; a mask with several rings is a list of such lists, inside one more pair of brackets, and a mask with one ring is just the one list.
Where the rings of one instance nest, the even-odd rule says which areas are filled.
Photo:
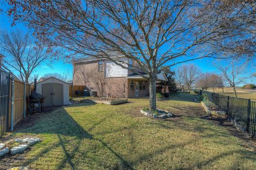
[[1, 49], [5, 55], [5, 69], [17, 75], [24, 82], [29, 81], [31, 73], [50, 58], [47, 49], [36, 44], [29, 32], [20, 30], [1, 32]]

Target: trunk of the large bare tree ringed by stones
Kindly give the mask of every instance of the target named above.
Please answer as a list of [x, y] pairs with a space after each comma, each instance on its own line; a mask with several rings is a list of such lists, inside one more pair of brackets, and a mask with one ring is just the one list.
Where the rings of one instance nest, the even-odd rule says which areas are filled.
[[149, 78], [149, 107], [151, 111], [156, 110], [156, 77]]

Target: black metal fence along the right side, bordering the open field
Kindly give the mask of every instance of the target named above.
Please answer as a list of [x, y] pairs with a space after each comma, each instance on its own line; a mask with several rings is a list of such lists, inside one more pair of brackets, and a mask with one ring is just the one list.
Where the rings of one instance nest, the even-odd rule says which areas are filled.
[[226, 111], [231, 121], [236, 123], [239, 128], [249, 132], [252, 137], [256, 137], [256, 102], [209, 91], [202, 91], [202, 94], [206, 94], [209, 101]]

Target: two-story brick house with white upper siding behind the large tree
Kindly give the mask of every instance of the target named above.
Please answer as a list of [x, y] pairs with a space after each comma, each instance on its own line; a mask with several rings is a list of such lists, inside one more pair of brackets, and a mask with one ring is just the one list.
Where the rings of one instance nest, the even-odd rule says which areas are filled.
[[[101, 58], [86, 57], [73, 62], [73, 85], [86, 86], [88, 90], [98, 91], [92, 74], [99, 72], [108, 79], [104, 96], [115, 96], [118, 98], [137, 98], [149, 95], [148, 81], [127, 69]], [[142, 73], [143, 74], [143, 73]], [[146, 74], [145, 74], [146, 75]], [[147, 76], [147, 75], [146, 75]], [[164, 73], [157, 74], [158, 82], [167, 81]], [[99, 92], [98, 92], [99, 94]]]

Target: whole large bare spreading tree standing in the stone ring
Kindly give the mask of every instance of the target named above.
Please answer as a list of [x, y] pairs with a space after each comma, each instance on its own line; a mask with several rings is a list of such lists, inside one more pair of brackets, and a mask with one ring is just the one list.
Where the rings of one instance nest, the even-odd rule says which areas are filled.
[[[211, 1], [210, 1], [211, 2]], [[205, 10], [204, 0], [10, 0], [10, 15], [35, 30], [37, 38], [72, 55], [113, 61], [149, 81], [156, 109], [156, 80], [162, 66], [213, 57], [211, 46], [229, 37], [229, 12]], [[214, 2], [213, 2], [214, 3]], [[113, 56], [110, 52], [118, 52]], [[196, 55], [195, 55], [196, 54]], [[131, 58], [135, 64], [125, 63]], [[137, 67], [147, 74], [138, 72]]]

